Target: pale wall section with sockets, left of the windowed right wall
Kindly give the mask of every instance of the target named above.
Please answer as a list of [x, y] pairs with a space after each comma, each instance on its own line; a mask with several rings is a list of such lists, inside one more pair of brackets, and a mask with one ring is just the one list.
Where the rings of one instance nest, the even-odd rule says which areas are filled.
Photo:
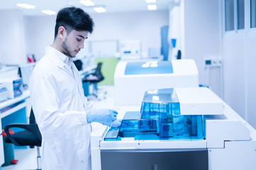
[[[221, 8], [219, 1], [183, 1], [184, 45], [182, 58], [194, 59], [199, 69], [199, 83], [208, 85], [204, 57], [221, 56]], [[220, 69], [211, 69], [210, 88], [221, 96]]]

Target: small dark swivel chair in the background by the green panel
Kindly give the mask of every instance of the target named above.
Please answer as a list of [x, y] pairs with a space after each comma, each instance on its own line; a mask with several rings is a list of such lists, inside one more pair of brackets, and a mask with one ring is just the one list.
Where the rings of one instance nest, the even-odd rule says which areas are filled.
[[[97, 64], [97, 67], [95, 69], [95, 72], [91, 73], [91, 74], [87, 74], [84, 76], [84, 79], [82, 79], [83, 82], [89, 82], [89, 84], [93, 84], [94, 85], [94, 90], [91, 94], [89, 94], [88, 99], [91, 97], [91, 96], [95, 96], [96, 98], [99, 98], [99, 94], [98, 94], [98, 87], [97, 87], [97, 83], [99, 83], [100, 81], [103, 81], [104, 80], [104, 76], [103, 74], [101, 73], [101, 67], [102, 67], [102, 62], [99, 62]], [[102, 94], [106, 94], [106, 91], [104, 91], [104, 93]], [[104, 96], [105, 98], [105, 96]]]

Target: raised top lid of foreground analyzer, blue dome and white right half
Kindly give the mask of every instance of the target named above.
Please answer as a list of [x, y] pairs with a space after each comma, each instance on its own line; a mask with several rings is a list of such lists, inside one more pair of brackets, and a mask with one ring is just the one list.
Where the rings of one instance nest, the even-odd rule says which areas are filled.
[[[157, 103], [157, 105], [156, 105]], [[142, 111], [175, 106], [180, 115], [222, 115], [223, 101], [205, 87], [156, 89], [146, 91]], [[169, 111], [168, 111], [169, 112]], [[177, 114], [177, 113], [176, 113]]]

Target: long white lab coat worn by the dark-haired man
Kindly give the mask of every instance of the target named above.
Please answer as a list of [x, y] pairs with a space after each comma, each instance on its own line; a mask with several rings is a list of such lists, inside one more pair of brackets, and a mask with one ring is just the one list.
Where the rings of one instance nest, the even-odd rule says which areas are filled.
[[91, 169], [91, 125], [86, 114], [92, 106], [84, 97], [72, 60], [46, 47], [45, 56], [31, 74], [29, 87], [43, 137], [43, 170]]

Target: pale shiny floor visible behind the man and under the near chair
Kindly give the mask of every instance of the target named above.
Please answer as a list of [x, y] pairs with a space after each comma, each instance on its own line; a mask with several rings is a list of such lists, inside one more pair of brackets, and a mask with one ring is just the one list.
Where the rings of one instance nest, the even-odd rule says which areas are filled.
[[[100, 96], [100, 100], [97, 98], [91, 97], [90, 101], [94, 104], [95, 108], [113, 108], [118, 110], [118, 108], [115, 108], [114, 106], [114, 89], [111, 85], [101, 85], [98, 87], [99, 92], [101, 94], [104, 94], [103, 92], [106, 91], [106, 98], [104, 98], [104, 95]], [[2, 170], [30, 170], [30, 169], [36, 169], [37, 168], [37, 149], [33, 148], [30, 149], [14, 149], [14, 157], [15, 159], [18, 159], [18, 163], [15, 165], [9, 165], [2, 167]], [[1, 167], [0, 167], [1, 169]]]

